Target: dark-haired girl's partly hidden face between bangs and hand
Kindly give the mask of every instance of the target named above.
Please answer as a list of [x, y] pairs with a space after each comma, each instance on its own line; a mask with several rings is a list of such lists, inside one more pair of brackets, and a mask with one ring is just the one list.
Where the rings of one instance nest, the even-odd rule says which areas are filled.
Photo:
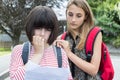
[[34, 32], [34, 36], [42, 37], [45, 40], [45, 42], [48, 41], [50, 34], [51, 34], [51, 30], [45, 29], [45, 28], [35, 29], [35, 32]]

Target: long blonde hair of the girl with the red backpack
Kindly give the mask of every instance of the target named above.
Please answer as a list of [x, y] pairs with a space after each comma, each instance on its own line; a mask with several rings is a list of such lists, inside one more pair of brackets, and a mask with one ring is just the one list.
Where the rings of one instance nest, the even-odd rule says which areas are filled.
[[[73, 4], [76, 5], [77, 7], [82, 8], [84, 10], [85, 16], [86, 16], [86, 19], [85, 19], [83, 25], [80, 26], [80, 32], [81, 32], [80, 41], [79, 41], [79, 44], [77, 45], [77, 48], [79, 50], [81, 50], [84, 48], [85, 40], [86, 40], [89, 30], [94, 26], [94, 17], [93, 17], [93, 13], [90, 9], [90, 6], [86, 0], [70, 0], [67, 4], [66, 14], [67, 14], [68, 8]], [[68, 28], [69, 32], [72, 31], [69, 29], [69, 27], [67, 27], [67, 28]], [[71, 34], [72, 34], [72, 32], [71, 32]]]

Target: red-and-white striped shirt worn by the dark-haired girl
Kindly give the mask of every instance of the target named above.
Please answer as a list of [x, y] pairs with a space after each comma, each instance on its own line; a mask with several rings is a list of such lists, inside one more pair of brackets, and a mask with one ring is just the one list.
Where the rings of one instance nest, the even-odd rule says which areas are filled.
[[[21, 58], [22, 48], [23, 48], [23, 45], [17, 45], [12, 50], [11, 62], [10, 62], [10, 79], [11, 80], [24, 80], [25, 66], [24, 66], [23, 60]], [[68, 68], [69, 63], [68, 63], [68, 58], [66, 56], [66, 53], [64, 52], [63, 49], [61, 49], [61, 53], [62, 53], [62, 67], [63, 68]], [[31, 57], [33, 55], [34, 55], [34, 49], [32, 47], [31, 53], [29, 55], [29, 60], [31, 59]], [[54, 50], [53, 50], [52, 46], [45, 49], [44, 55], [43, 55], [39, 65], [40, 66], [58, 67], [57, 57], [54, 53]], [[69, 75], [68, 80], [73, 80], [72, 76], [71, 76], [71, 73]]]

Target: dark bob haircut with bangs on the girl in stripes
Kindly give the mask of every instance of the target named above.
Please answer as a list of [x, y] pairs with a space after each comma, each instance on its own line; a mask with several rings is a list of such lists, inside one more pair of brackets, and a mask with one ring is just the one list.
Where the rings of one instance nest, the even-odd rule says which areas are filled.
[[48, 44], [51, 45], [58, 36], [58, 19], [54, 11], [46, 6], [36, 6], [33, 8], [26, 18], [26, 34], [32, 43], [34, 29], [50, 29], [51, 34], [48, 38]]

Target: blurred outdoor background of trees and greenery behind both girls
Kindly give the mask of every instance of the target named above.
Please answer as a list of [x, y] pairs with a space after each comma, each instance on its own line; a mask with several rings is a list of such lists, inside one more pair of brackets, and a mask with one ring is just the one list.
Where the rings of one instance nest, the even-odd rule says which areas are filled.
[[[15, 45], [27, 41], [24, 31], [25, 18], [37, 5], [52, 8], [59, 20], [59, 34], [66, 31], [65, 11], [68, 1], [0, 0], [0, 58], [10, 55]], [[95, 25], [100, 26], [104, 31], [103, 41], [108, 45], [110, 53], [118, 56], [120, 53], [120, 0], [87, 1], [94, 13]]]

